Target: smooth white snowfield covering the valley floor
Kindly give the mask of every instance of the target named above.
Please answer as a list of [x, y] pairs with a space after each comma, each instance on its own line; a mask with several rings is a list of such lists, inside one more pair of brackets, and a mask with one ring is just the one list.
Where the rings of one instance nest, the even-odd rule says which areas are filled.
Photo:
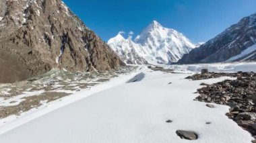
[[[143, 67], [136, 73], [65, 97], [61, 102], [4, 124], [0, 128], [0, 142], [251, 142], [251, 134], [225, 115], [229, 107], [216, 105], [210, 108], [205, 106], [206, 103], [193, 101], [199, 95], [195, 91], [201, 83], [232, 79], [185, 79], [204, 66], [210, 70], [256, 71], [256, 63], [172, 66], [183, 71], [179, 74]], [[166, 120], [172, 120], [172, 123], [166, 123]], [[196, 132], [199, 138], [183, 140], [175, 133], [177, 130]]]

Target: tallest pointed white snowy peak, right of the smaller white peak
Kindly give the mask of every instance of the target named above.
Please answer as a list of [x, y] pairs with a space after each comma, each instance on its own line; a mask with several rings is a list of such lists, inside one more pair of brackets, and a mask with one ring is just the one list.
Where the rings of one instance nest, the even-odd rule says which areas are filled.
[[135, 38], [135, 43], [141, 44], [143, 50], [150, 55], [146, 60], [158, 64], [177, 62], [184, 54], [195, 48], [183, 34], [171, 28], [164, 28], [157, 21], [150, 23]]

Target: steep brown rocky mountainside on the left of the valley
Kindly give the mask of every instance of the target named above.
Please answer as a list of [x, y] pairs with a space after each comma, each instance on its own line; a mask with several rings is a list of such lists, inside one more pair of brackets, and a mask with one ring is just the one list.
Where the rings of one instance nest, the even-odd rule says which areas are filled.
[[1, 0], [0, 7], [0, 83], [51, 68], [90, 71], [123, 65], [61, 0]]

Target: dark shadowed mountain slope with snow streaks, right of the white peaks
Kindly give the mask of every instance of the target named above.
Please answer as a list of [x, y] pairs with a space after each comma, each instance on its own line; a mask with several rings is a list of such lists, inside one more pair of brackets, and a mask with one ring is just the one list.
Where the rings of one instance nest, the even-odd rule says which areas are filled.
[[256, 59], [256, 13], [244, 17], [212, 40], [185, 54], [179, 64]]

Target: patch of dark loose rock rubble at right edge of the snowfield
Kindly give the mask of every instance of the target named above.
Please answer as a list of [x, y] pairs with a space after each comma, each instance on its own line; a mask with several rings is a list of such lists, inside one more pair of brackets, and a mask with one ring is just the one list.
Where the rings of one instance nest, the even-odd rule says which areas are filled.
[[[199, 97], [195, 100], [230, 106], [226, 115], [239, 126], [256, 135], [256, 74], [251, 72], [209, 73], [212, 77], [238, 77], [236, 80], [225, 80], [197, 89]], [[188, 79], [209, 79], [204, 75], [193, 75]]]

